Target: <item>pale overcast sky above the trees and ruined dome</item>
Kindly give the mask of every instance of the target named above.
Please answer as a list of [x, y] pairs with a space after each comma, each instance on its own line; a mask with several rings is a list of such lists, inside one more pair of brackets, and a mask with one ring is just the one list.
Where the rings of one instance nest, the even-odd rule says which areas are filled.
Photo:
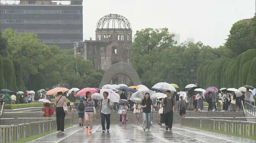
[[194, 36], [195, 42], [223, 45], [232, 24], [254, 16], [255, 0], [84, 0], [84, 39], [95, 40], [98, 20], [107, 14], [126, 17], [133, 30], [164, 28], [180, 33], [183, 42]]

